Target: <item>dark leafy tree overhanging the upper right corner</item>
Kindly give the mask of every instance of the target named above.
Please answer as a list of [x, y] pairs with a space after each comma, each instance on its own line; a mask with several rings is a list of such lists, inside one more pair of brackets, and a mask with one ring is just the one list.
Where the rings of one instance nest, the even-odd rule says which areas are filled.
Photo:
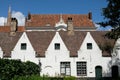
[[107, 0], [107, 2], [107, 7], [102, 10], [104, 21], [99, 24], [102, 27], [111, 26], [113, 29], [106, 36], [117, 39], [120, 37], [120, 0]]

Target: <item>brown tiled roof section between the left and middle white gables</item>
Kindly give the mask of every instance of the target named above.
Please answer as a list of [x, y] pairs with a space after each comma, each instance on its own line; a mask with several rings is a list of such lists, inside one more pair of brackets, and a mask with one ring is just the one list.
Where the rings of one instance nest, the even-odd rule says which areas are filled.
[[44, 57], [45, 51], [49, 47], [55, 32], [53, 31], [32, 31], [27, 32], [27, 36], [37, 53], [37, 56]]

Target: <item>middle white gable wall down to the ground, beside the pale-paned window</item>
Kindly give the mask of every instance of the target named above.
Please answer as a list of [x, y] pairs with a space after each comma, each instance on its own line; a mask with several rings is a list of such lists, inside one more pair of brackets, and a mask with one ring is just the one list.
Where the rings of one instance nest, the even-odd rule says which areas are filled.
[[[55, 43], [60, 44], [60, 50], [55, 50]], [[58, 32], [56, 32], [53, 40], [45, 52], [45, 58], [42, 61], [42, 74], [50, 76], [60, 75], [60, 62], [70, 61], [69, 51], [65, 46]]]

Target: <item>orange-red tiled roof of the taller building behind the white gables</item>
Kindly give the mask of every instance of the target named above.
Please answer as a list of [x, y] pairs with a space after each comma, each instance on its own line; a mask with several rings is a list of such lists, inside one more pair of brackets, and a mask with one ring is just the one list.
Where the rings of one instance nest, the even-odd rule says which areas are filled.
[[[63, 14], [62, 18], [66, 24], [69, 17], [72, 18], [74, 27], [95, 27], [88, 14]], [[27, 27], [45, 27], [47, 24], [54, 27], [60, 21], [59, 14], [31, 14], [30, 18], [26, 20]]]

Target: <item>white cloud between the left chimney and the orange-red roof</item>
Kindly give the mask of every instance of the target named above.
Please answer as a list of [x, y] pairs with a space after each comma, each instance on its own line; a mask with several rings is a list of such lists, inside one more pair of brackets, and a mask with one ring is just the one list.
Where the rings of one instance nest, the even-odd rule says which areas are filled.
[[15, 17], [18, 20], [18, 25], [19, 26], [24, 26], [25, 25], [25, 16], [21, 12], [12, 12], [12, 17]]

